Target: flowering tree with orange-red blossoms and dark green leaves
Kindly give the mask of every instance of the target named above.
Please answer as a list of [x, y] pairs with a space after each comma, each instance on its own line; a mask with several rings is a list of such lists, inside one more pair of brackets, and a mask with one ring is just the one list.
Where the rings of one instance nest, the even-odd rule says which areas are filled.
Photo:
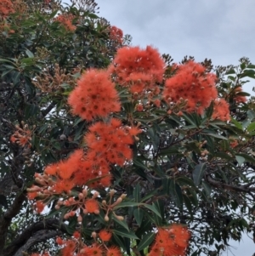
[[96, 8], [0, 5], [0, 255], [218, 255], [255, 228], [255, 65], [174, 64]]

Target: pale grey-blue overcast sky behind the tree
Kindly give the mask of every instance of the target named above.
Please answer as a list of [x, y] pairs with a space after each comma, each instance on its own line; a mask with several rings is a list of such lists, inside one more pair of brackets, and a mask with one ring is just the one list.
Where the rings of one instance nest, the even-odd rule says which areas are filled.
[[[213, 65], [255, 64], [254, 0], [96, 0], [99, 16], [133, 37], [133, 46], [153, 45], [175, 62], [185, 55], [211, 59]], [[251, 78], [252, 79], [252, 78]], [[249, 93], [255, 81], [249, 83]], [[254, 93], [252, 93], [254, 95]], [[251, 234], [252, 236], [252, 234]], [[230, 242], [223, 255], [252, 256], [255, 245]]]

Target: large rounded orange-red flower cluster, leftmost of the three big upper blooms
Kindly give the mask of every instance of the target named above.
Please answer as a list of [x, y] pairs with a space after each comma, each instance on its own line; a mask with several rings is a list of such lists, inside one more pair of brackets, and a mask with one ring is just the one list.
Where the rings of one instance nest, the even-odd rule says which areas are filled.
[[115, 85], [105, 71], [87, 71], [77, 84], [68, 99], [74, 114], [91, 121], [121, 110]]

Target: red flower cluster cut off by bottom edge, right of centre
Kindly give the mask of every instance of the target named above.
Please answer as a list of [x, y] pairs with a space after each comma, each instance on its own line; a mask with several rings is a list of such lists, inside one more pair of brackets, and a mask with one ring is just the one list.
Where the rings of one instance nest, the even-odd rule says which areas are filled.
[[172, 225], [169, 229], [158, 230], [156, 241], [150, 249], [150, 256], [183, 256], [188, 247], [190, 232], [182, 225]]

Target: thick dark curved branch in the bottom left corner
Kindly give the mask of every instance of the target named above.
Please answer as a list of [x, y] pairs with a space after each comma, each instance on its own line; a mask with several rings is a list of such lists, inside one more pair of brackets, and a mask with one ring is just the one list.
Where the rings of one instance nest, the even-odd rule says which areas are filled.
[[[30, 225], [26, 230], [24, 230], [20, 236], [16, 237], [14, 239], [14, 242], [12, 242], [6, 249], [3, 250], [3, 255], [5, 256], [13, 256], [21, 247], [24, 245], [31, 243], [36, 244], [37, 242], [40, 242], [39, 240], [34, 241], [32, 240], [29, 242], [31, 237], [34, 236], [38, 231], [42, 230], [58, 230], [59, 232], [66, 233], [66, 225], [61, 224], [59, 219], [51, 218], [51, 219], [44, 219], [42, 221], [39, 221], [37, 223], [34, 223]], [[46, 234], [46, 233], [45, 233]], [[45, 235], [45, 237], [48, 237]]]

